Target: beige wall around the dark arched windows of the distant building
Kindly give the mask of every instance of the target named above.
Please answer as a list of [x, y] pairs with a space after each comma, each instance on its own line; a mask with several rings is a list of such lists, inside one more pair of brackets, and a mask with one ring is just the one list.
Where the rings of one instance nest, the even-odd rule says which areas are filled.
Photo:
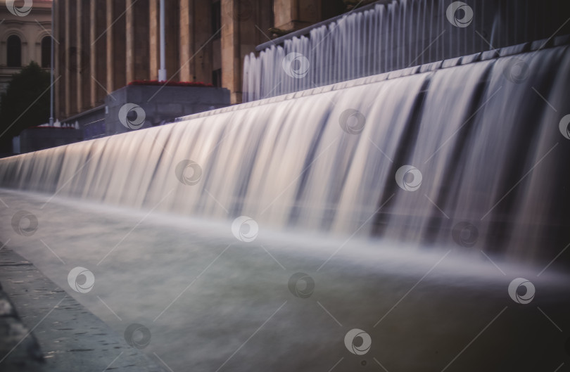
[[[16, 2], [18, 4], [18, 1]], [[6, 7], [6, 0], [0, 0], [0, 92], [5, 91], [13, 74], [19, 72], [32, 60], [42, 65], [42, 39], [51, 32], [51, 0], [34, 0], [30, 13], [13, 15]], [[21, 41], [20, 67], [8, 67], [6, 62], [6, 41], [17, 35]], [[46, 68], [49, 69], [48, 66]]]

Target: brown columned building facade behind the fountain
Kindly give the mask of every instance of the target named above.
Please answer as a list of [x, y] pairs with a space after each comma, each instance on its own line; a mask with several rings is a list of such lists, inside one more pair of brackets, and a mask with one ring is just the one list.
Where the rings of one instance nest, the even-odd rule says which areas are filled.
[[[56, 117], [156, 80], [159, 0], [54, 0]], [[167, 79], [229, 89], [241, 103], [243, 58], [272, 37], [346, 9], [343, 0], [165, 0]]]

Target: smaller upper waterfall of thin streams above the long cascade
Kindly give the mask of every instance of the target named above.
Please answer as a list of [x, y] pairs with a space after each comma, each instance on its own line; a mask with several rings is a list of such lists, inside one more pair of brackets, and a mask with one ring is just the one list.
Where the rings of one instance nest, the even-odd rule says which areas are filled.
[[381, 1], [300, 37], [265, 43], [243, 62], [243, 101], [570, 33], [567, 1], [466, 0], [455, 12], [452, 3]]

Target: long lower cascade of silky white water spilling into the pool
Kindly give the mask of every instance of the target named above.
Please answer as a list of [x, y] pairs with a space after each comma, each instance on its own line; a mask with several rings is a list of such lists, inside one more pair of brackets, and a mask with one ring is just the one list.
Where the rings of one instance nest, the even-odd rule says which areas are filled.
[[570, 241], [566, 42], [5, 158], [0, 184], [278, 229], [465, 246], [476, 233], [490, 251], [551, 258]]

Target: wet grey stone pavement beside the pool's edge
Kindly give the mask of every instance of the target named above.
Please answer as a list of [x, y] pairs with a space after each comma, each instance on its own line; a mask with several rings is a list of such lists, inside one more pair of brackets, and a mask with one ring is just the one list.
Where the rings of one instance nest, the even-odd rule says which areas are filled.
[[6, 247], [0, 283], [0, 371], [165, 371]]

